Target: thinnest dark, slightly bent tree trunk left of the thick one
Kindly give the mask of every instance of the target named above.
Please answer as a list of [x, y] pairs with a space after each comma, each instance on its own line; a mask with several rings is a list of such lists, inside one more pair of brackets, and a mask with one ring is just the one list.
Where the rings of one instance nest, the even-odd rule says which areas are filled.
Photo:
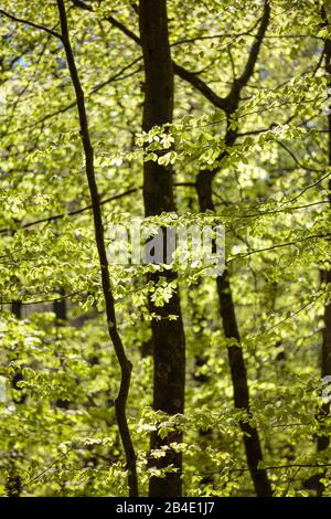
[[95, 167], [94, 167], [94, 150], [89, 137], [88, 120], [85, 107], [85, 96], [82, 88], [81, 80], [76, 68], [76, 63], [70, 41], [70, 33], [67, 27], [66, 11], [63, 0], [57, 0], [57, 9], [61, 22], [61, 40], [65, 50], [67, 66], [70, 70], [73, 87], [76, 95], [77, 110], [81, 126], [81, 138], [85, 155], [85, 172], [89, 188], [90, 202], [93, 208], [95, 241], [98, 252], [103, 293], [106, 303], [106, 316], [110, 340], [113, 341], [114, 349], [120, 366], [121, 379], [118, 396], [115, 401], [116, 417], [119, 428], [121, 443], [126, 454], [127, 469], [128, 469], [128, 486], [129, 495], [131, 497], [138, 496], [138, 478], [136, 466], [136, 453], [130, 435], [130, 431], [126, 416], [126, 403], [130, 388], [131, 380], [131, 362], [128, 360], [120, 336], [117, 330], [116, 316], [115, 316], [115, 301], [111, 293], [108, 260], [105, 245], [103, 216], [99, 203], [98, 188], [96, 184]]

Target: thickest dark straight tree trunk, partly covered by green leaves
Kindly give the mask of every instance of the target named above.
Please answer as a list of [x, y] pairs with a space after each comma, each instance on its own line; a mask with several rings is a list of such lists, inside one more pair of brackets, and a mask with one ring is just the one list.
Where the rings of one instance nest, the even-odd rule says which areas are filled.
[[[139, 28], [145, 62], [145, 105], [143, 130], [172, 121], [173, 71], [170, 54], [166, 0], [140, 0]], [[146, 215], [160, 214], [175, 210], [171, 167], [156, 162], [143, 165], [143, 201]], [[159, 275], [150, 276], [158, 283]], [[174, 273], [162, 273], [168, 282], [175, 278]], [[179, 292], [162, 308], [149, 301], [150, 311], [161, 316], [152, 321], [153, 339], [153, 409], [170, 415], [183, 413], [185, 383], [185, 340], [180, 307]], [[177, 320], [169, 320], [169, 315]], [[151, 449], [181, 442], [182, 434], [175, 431], [161, 439], [157, 432], [151, 436]], [[151, 497], [181, 496], [182, 456], [169, 448], [167, 455], [152, 462], [157, 468], [172, 465], [177, 472], [166, 477], [150, 479]]]

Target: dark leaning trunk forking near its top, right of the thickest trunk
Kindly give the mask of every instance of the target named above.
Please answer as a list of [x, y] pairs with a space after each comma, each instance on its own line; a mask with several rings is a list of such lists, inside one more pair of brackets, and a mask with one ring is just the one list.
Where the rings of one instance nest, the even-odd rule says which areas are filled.
[[[222, 100], [220, 106], [226, 114], [227, 117], [227, 129], [225, 134], [225, 145], [227, 147], [233, 146], [237, 139], [237, 130], [229, 128], [229, 119], [235, 115], [236, 109], [239, 106], [241, 93], [252, 75], [254, 74], [255, 64], [259, 54], [260, 45], [268, 28], [270, 19], [270, 2], [265, 0], [264, 2], [264, 14], [259, 24], [259, 29], [252, 46], [249, 57], [243, 74], [234, 80], [232, 89], [227, 97]], [[200, 85], [196, 87], [199, 89]], [[209, 95], [210, 99], [216, 98], [217, 96]], [[214, 100], [213, 103], [218, 103]], [[225, 156], [226, 151], [218, 157], [218, 160]], [[218, 172], [218, 168], [214, 170], [201, 171], [196, 178], [196, 190], [199, 195], [200, 211], [215, 211], [213, 202], [213, 179]], [[231, 280], [228, 271], [225, 269], [222, 276], [217, 277], [217, 294], [220, 300], [220, 313], [223, 322], [224, 335], [227, 339], [235, 339], [238, 346], [232, 346], [227, 348], [228, 362], [232, 375], [232, 383], [234, 389], [234, 402], [235, 406], [241, 410], [246, 410], [247, 417], [252, 416], [249, 410], [249, 390], [247, 381], [247, 371], [243, 350], [239, 346], [241, 337], [237, 326], [235, 307], [232, 297]], [[247, 465], [252, 475], [253, 484], [255, 487], [256, 495], [258, 497], [271, 497], [273, 489], [268, 479], [267, 472], [258, 468], [259, 462], [263, 462], [263, 452], [257, 430], [247, 422], [241, 422], [241, 430], [244, 434], [244, 445], [247, 458]]]

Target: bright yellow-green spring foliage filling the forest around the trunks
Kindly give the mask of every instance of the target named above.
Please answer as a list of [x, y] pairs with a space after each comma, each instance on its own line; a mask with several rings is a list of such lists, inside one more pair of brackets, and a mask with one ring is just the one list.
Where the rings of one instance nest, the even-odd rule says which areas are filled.
[[[120, 369], [61, 4], [0, 6], [0, 494], [127, 496]], [[199, 267], [107, 269], [132, 363], [126, 407], [140, 495], [151, 476], [174, 472], [184, 496], [264, 495], [268, 484], [275, 497], [331, 496], [330, 2], [168, 0], [174, 110], [151, 129], [143, 6], [64, 8], [106, 246], [108, 227], [143, 214], [226, 230], [220, 279]], [[173, 174], [169, 211], [162, 201], [159, 214], [147, 211], [147, 163]], [[153, 405], [151, 325], [158, 311], [177, 321], [162, 314], [172, 298], [185, 335], [185, 406], [169, 414]], [[244, 359], [248, 405], [234, 404], [234, 357]], [[164, 442], [150, 451], [156, 433]], [[243, 439], [257, 433], [263, 456], [249, 462]], [[182, 467], [153, 463], [167, 449], [183, 453]], [[260, 492], [256, 474], [268, 480]]]

